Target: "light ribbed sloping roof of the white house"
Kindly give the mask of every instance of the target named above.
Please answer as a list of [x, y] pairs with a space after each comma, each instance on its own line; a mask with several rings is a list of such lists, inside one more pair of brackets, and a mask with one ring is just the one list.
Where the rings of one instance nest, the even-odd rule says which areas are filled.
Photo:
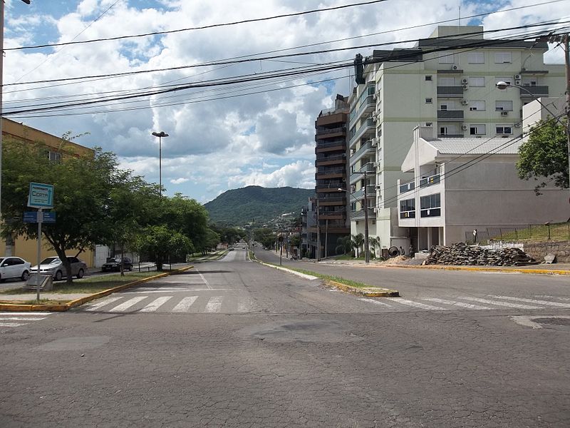
[[522, 144], [520, 138], [430, 138], [425, 141], [442, 155], [516, 155]]

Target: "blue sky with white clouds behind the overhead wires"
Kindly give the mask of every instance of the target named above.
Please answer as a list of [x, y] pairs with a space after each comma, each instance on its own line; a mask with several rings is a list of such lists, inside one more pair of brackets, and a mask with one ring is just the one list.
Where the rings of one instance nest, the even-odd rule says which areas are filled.
[[[152, 132], [164, 131], [165, 194], [182, 193], [199, 203], [247, 185], [314, 188], [314, 121], [333, 106], [337, 93], [352, 91], [352, 69], [292, 71], [348, 64], [358, 53], [372, 54], [374, 48], [364, 45], [410, 47], [438, 22], [457, 25], [460, 16], [462, 25], [492, 30], [570, 15], [570, 0], [367, 2], [6, 0], [4, 113], [56, 136], [70, 133], [82, 146], [112, 151], [121, 168], [149, 183], [159, 182], [159, 139]], [[351, 4], [359, 5], [299, 14]], [[521, 9], [507, 10], [512, 8]], [[286, 14], [297, 15], [218, 25]], [[479, 14], [486, 15], [470, 18]], [[196, 29], [204, 26], [209, 28]], [[175, 32], [15, 49], [163, 31]], [[344, 50], [330, 51], [339, 48]], [[284, 56], [301, 52], [313, 53]], [[551, 45], [545, 61], [563, 63], [564, 53]], [[274, 77], [252, 81], [266, 76]], [[240, 81], [212, 86], [227, 79]], [[165, 88], [171, 91], [149, 94]], [[135, 92], [145, 96], [9, 114]]]

